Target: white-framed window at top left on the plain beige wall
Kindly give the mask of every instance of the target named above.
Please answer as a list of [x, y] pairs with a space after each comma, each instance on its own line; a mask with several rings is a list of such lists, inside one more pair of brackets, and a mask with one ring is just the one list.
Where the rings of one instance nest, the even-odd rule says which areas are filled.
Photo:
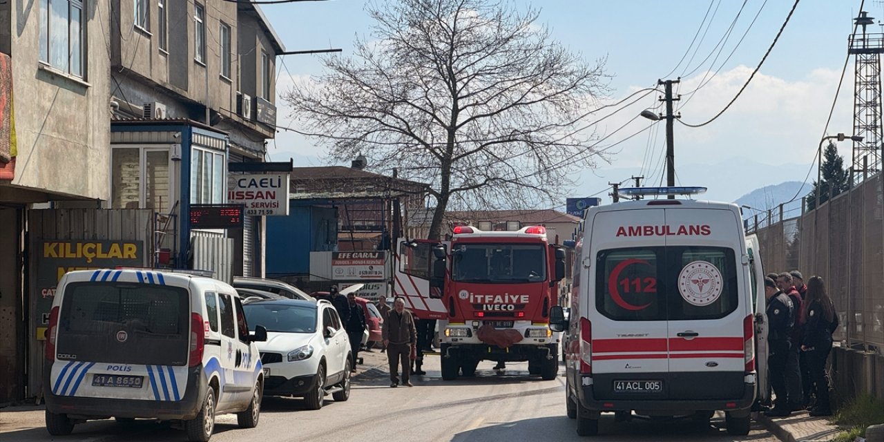
[[40, 61], [84, 78], [82, 25], [80, 0], [40, 0]]

